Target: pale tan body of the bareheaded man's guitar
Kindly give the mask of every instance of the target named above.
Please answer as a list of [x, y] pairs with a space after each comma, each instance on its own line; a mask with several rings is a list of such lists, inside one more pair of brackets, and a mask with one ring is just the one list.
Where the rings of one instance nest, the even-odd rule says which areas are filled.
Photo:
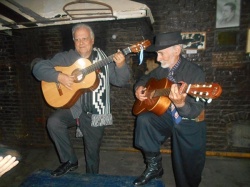
[[[67, 75], [72, 75], [75, 70], [85, 69], [90, 65], [92, 65], [92, 63], [88, 59], [81, 58], [71, 66], [56, 66], [55, 69]], [[57, 85], [55, 82], [42, 81], [41, 83], [46, 102], [55, 108], [69, 108], [73, 106], [82, 93], [93, 91], [98, 85], [99, 79], [95, 71], [87, 74], [82, 80], [75, 82], [71, 86], [72, 90], [69, 90], [63, 85]]]

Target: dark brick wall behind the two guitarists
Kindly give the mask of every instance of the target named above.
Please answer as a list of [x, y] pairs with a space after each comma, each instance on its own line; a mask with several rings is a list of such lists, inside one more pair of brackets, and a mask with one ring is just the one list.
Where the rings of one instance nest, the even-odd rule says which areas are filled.
[[[247, 129], [250, 124], [250, 94], [247, 88], [250, 82], [250, 60], [245, 54], [246, 30], [250, 27], [250, 3], [242, 0], [239, 28], [215, 29], [215, 0], [137, 1], [150, 7], [155, 23], [150, 25], [147, 19], [89, 23], [95, 31], [96, 46], [105, 49], [110, 55], [118, 48], [141, 41], [142, 35], [152, 39], [154, 33], [165, 31], [206, 32], [206, 49], [185, 56], [203, 68], [208, 82], [218, 82], [223, 88], [220, 98], [206, 106], [207, 150], [249, 152], [250, 147], [235, 147], [232, 143], [232, 129], [239, 121], [248, 124], [245, 125]], [[7, 144], [51, 145], [46, 119], [53, 109], [44, 102], [40, 82], [31, 74], [32, 60], [37, 57], [50, 58], [59, 51], [71, 48], [71, 27], [64, 25], [13, 30], [12, 36], [1, 32], [0, 141]], [[237, 36], [236, 44], [218, 45], [218, 34], [232, 30]], [[112, 39], [113, 34], [117, 35], [116, 40]], [[213, 54], [226, 55], [227, 52], [242, 52], [240, 66], [213, 66]], [[111, 88], [114, 125], [106, 128], [102, 148], [133, 148], [135, 116], [131, 114], [134, 103], [132, 86], [138, 77], [137, 73], [140, 75], [145, 71], [145, 64], [138, 66], [138, 55], [130, 54], [129, 57], [133, 77], [127, 87]], [[82, 140], [74, 138], [75, 130], [71, 129], [70, 133], [75, 146], [81, 147]], [[162, 148], [169, 149], [169, 141]]]

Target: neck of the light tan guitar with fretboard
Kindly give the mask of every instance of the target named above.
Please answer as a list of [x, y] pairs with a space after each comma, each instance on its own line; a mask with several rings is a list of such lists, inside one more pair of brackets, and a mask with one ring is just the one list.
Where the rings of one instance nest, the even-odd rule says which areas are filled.
[[[131, 50], [130, 50], [129, 47], [122, 50], [122, 53], [124, 55], [127, 55], [130, 52], [131, 52]], [[92, 64], [91, 66], [86, 67], [85, 69], [82, 69], [83, 75], [87, 75], [87, 74], [89, 74], [89, 73], [91, 73], [93, 71], [96, 71], [96, 70], [100, 69], [103, 66], [108, 65], [110, 62], [113, 62], [113, 57], [114, 57], [114, 54], [108, 56], [107, 58], [105, 58], [103, 60], [100, 60], [100, 61]]]

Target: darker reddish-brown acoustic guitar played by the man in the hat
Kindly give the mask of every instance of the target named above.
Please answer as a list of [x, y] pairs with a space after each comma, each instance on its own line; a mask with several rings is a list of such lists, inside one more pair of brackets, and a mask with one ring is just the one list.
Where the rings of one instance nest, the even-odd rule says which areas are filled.
[[[151, 78], [146, 84], [145, 93], [147, 99], [144, 101], [136, 100], [133, 106], [133, 114], [139, 115], [146, 111], [151, 111], [160, 116], [168, 109], [171, 104], [171, 100], [168, 98], [170, 88], [173, 82], [167, 78], [157, 80]], [[222, 88], [218, 83], [204, 83], [204, 84], [186, 84], [183, 83], [182, 93], [187, 93], [198, 100], [207, 100], [211, 102], [212, 99], [216, 99], [222, 93]]]

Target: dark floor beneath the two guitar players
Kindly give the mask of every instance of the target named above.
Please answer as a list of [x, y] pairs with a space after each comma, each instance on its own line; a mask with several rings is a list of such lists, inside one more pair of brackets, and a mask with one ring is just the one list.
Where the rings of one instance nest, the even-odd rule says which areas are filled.
[[[38, 170], [54, 170], [59, 165], [53, 147], [20, 148], [22, 160], [0, 178], [0, 187], [17, 187]], [[76, 149], [79, 168], [75, 173], [85, 173], [83, 149]], [[163, 154], [166, 187], [174, 187], [174, 177], [169, 154]], [[145, 169], [140, 152], [101, 151], [100, 174], [138, 176]], [[250, 159], [207, 157], [200, 187], [248, 187], [250, 184]]]

